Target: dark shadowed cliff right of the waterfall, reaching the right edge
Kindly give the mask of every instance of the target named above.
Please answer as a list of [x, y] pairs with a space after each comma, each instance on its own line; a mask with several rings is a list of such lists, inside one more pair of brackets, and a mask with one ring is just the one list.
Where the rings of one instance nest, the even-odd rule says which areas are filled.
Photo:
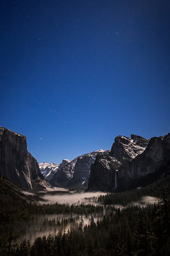
[[143, 186], [170, 171], [170, 134], [150, 139], [146, 150], [118, 171], [119, 187]]

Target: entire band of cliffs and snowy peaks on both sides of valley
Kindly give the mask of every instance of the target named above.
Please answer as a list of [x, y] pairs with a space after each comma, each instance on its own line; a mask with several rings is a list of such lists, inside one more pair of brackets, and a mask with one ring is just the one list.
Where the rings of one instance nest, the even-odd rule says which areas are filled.
[[35, 191], [55, 186], [115, 192], [145, 186], [170, 173], [170, 134], [150, 140], [119, 135], [111, 150], [38, 166], [27, 151], [26, 137], [0, 127], [0, 173]]

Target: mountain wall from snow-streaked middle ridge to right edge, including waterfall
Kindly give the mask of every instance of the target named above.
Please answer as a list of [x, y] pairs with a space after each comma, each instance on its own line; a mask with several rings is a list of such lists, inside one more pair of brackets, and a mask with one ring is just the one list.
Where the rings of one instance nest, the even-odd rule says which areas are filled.
[[60, 170], [56, 168], [49, 182], [57, 187], [110, 192], [145, 186], [169, 170], [169, 136], [149, 140], [119, 135], [111, 150], [75, 158]]

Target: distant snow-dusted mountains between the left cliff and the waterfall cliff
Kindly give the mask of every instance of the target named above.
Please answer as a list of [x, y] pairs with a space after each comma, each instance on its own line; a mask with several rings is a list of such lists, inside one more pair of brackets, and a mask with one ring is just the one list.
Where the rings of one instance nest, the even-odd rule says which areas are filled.
[[39, 167], [44, 177], [54, 187], [87, 189], [91, 164], [95, 162], [98, 153], [109, 154], [110, 150], [99, 149], [78, 156], [74, 160], [62, 160], [62, 163], [40, 163]]

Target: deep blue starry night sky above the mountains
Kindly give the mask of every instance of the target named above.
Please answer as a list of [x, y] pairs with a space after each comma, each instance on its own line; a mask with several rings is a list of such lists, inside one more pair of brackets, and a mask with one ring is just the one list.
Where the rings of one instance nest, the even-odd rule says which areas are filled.
[[0, 126], [38, 163], [170, 132], [169, 0], [2, 0], [0, 12]]

